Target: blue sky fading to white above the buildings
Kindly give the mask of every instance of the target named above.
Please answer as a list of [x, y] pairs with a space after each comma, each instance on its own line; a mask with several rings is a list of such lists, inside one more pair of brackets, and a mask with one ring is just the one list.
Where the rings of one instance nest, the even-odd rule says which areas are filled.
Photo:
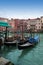
[[43, 0], [0, 0], [0, 17], [37, 18], [43, 16]]

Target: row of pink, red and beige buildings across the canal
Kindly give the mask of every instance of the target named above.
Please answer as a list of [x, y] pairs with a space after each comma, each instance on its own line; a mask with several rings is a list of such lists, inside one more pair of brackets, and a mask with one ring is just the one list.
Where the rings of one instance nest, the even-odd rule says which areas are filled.
[[[7, 18], [1, 18], [0, 21], [5, 21], [8, 22], [12, 28], [9, 30], [12, 31], [22, 31], [22, 26], [23, 26], [23, 31], [29, 31], [32, 29], [32, 31], [43, 31], [43, 16], [40, 18], [35, 18], [35, 19], [13, 19], [11, 18], [10, 20]], [[4, 27], [0, 27], [0, 30], [5, 30]]]

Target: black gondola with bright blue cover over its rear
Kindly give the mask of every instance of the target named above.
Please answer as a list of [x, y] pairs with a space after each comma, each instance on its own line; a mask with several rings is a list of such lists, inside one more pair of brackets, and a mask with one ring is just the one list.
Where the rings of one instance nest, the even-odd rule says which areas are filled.
[[34, 38], [29, 37], [25, 42], [18, 43], [18, 49], [25, 49], [28, 47], [33, 47], [39, 42], [39, 36], [34, 36]]

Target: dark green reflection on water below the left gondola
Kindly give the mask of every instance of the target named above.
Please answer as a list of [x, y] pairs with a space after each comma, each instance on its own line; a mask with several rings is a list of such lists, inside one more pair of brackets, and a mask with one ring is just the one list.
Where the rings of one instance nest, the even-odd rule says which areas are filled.
[[16, 47], [12, 47], [12, 46], [4, 46], [3, 48], [0, 49], [0, 56], [6, 56], [8, 53], [10, 53], [11, 51], [15, 50]]

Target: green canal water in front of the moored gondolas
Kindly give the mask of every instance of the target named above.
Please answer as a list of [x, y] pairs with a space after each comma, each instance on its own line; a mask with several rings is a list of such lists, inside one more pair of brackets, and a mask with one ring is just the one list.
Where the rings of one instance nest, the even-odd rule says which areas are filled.
[[0, 50], [0, 56], [9, 59], [15, 65], [43, 65], [43, 34], [34, 48], [19, 50], [17, 47], [6, 47]]

